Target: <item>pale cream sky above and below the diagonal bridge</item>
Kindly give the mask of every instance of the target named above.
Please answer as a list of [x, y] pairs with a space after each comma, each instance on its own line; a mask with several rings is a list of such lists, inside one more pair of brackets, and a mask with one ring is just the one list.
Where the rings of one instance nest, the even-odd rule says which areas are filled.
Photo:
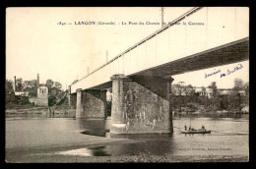
[[[171, 22], [189, 11], [190, 7], [164, 8], [164, 22]], [[6, 78], [14, 76], [24, 81], [40, 83], [50, 79], [66, 85], [81, 79], [114, 58], [133, 44], [161, 28], [160, 25], [135, 26], [122, 23], [160, 23], [160, 7], [150, 8], [7, 8], [6, 10]], [[113, 22], [115, 25], [78, 25], [79, 22]], [[72, 25], [69, 25], [72, 24]], [[107, 54], [106, 54], [107, 53]], [[242, 69], [225, 78], [205, 74], [241, 64]], [[191, 77], [197, 76], [197, 79]], [[185, 82], [193, 86], [232, 87], [235, 78], [249, 82], [249, 61], [225, 65], [182, 75], [174, 84]], [[226, 83], [226, 82], [231, 83]]]

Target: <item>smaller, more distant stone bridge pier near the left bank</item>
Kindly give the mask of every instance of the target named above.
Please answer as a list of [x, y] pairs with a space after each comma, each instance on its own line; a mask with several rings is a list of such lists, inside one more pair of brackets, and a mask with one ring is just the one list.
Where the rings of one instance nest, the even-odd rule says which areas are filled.
[[76, 118], [106, 118], [106, 89], [77, 90]]

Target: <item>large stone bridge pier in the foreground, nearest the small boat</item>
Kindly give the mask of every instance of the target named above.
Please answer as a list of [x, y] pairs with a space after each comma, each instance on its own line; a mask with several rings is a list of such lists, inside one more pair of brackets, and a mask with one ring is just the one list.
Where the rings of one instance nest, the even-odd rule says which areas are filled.
[[171, 77], [114, 75], [110, 134], [173, 133]]

